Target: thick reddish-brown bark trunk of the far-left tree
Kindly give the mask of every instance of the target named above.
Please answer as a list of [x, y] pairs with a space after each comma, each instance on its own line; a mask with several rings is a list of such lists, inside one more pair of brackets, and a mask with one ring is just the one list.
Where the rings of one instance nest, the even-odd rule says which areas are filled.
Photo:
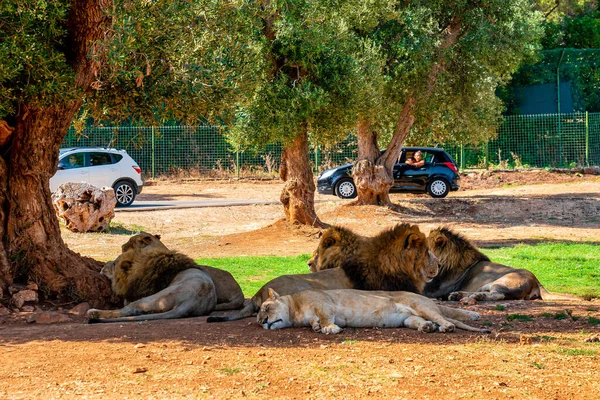
[[96, 79], [96, 41], [105, 38], [112, 1], [72, 2], [67, 17], [65, 57], [74, 71], [73, 89], [52, 105], [24, 102], [14, 115], [11, 137], [0, 149], [0, 287], [36, 282], [47, 297], [86, 300], [102, 306], [111, 296], [109, 282], [98, 273], [102, 263], [69, 250], [52, 206], [49, 180], [56, 172], [58, 150], [81, 95]]

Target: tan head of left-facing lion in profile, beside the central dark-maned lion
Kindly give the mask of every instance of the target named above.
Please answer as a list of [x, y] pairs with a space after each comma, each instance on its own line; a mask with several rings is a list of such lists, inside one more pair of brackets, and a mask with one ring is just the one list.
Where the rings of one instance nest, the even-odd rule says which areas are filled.
[[312, 272], [341, 267], [360, 247], [362, 237], [341, 226], [327, 228], [313, 256], [308, 260]]

